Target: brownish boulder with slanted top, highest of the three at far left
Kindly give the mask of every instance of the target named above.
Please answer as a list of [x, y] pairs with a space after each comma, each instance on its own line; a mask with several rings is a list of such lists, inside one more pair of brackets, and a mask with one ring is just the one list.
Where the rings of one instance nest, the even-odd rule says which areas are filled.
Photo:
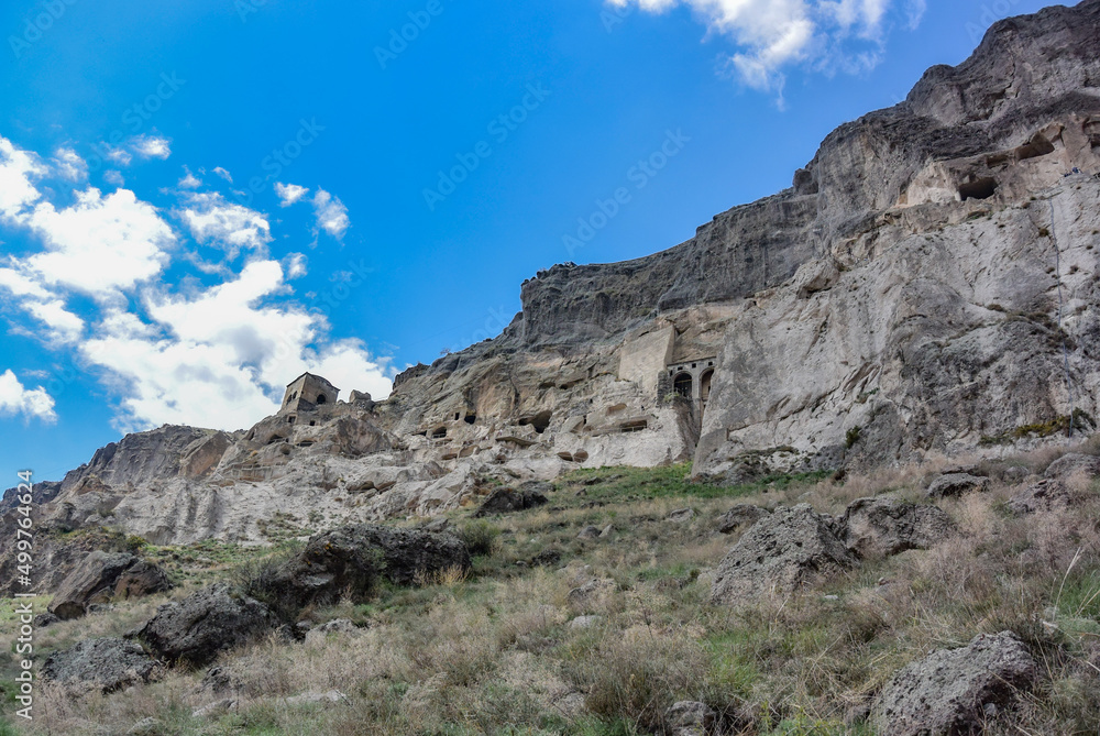
[[65, 620], [79, 618], [88, 606], [113, 597], [138, 597], [170, 590], [160, 567], [127, 552], [95, 551], [62, 581], [50, 612]]

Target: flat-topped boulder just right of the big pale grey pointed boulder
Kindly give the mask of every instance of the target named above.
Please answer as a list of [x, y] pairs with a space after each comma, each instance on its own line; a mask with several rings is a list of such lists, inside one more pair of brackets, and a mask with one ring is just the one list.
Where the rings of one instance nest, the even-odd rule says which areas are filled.
[[840, 521], [840, 539], [860, 557], [886, 557], [927, 549], [950, 536], [955, 525], [937, 506], [892, 498], [859, 498]]

